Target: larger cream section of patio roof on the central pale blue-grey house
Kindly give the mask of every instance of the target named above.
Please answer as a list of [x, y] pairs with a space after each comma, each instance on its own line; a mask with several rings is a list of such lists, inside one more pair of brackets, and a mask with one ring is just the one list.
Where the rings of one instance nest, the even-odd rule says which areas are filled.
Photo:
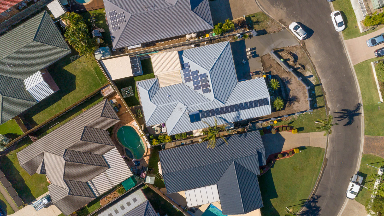
[[[164, 52], [164, 53], [151, 55], [151, 62], [152, 62], [153, 73], [155, 75], [181, 70], [179, 53], [177, 53], [177, 51]], [[181, 78], [181, 75], [180, 75], [180, 78]]]

